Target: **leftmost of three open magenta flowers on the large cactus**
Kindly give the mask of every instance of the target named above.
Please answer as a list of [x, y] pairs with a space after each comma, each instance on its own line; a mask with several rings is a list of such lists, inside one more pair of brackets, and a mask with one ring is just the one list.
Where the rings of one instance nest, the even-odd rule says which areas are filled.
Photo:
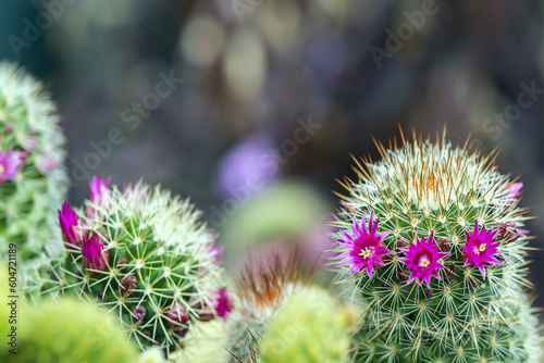
[[369, 225], [367, 229], [367, 221], [364, 216], [360, 224], [357, 223], [357, 220], [354, 215], [354, 225], [351, 226], [351, 231], [354, 236], [348, 235], [345, 230], [342, 230], [345, 238], [338, 239], [338, 242], [348, 249], [348, 251], [343, 252], [337, 255], [338, 259], [344, 259], [336, 266], [343, 266], [347, 264], [351, 264], [348, 270], [348, 273], [351, 271], [360, 272], [363, 268], [367, 270], [367, 274], [372, 279], [372, 272], [375, 266], [385, 266], [385, 263], [382, 261], [382, 256], [385, 254], [394, 253], [391, 250], [385, 248], [385, 243], [383, 239], [391, 231], [383, 231], [380, 235], [376, 235], [378, 224], [380, 223], [380, 218], [376, 218], [373, 222], [374, 212], [370, 214]]

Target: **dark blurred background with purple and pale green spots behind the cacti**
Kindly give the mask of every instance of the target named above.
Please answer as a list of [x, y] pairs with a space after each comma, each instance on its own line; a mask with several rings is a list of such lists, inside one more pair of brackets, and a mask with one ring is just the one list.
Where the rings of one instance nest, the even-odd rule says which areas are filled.
[[[0, 59], [44, 79], [70, 199], [91, 175], [190, 196], [230, 263], [247, 247], [331, 248], [336, 179], [398, 125], [484, 151], [544, 216], [539, 0], [2, 0]], [[542, 218], [528, 222], [544, 247]], [[544, 306], [544, 254], [531, 279]]]

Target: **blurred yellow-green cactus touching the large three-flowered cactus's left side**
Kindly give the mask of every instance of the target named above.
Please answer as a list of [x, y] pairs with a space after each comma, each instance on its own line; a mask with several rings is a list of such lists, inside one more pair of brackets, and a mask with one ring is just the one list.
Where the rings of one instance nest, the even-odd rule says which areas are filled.
[[262, 363], [348, 362], [355, 314], [324, 290], [297, 295], [270, 323], [260, 347]]

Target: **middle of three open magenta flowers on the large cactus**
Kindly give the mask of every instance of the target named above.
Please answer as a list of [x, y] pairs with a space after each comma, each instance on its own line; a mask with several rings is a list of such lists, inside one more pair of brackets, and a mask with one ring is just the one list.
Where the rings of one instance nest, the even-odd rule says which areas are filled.
[[398, 259], [406, 267], [411, 271], [408, 283], [418, 279], [419, 285], [426, 283], [431, 287], [431, 276], [441, 279], [438, 268], [444, 268], [444, 258], [449, 255], [448, 252], [441, 252], [438, 247], [434, 245], [434, 231], [431, 233], [428, 239], [421, 237], [416, 243], [410, 242], [408, 249], [399, 248], [405, 253], [405, 258]]

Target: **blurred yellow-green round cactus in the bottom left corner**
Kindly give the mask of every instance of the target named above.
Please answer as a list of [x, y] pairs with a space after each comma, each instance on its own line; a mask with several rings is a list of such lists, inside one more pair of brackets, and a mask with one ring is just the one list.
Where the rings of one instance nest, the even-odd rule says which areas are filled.
[[2, 362], [132, 363], [138, 356], [115, 318], [75, 299], [21, 309], [17, 325], [16, 354], [2, 349]]

